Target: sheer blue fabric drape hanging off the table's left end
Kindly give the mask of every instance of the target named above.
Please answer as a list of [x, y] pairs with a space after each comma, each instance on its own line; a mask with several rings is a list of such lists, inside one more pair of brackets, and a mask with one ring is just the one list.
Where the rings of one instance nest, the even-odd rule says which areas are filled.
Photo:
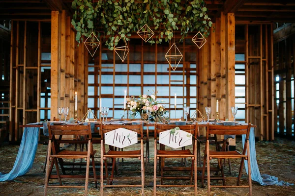
[[[38, 124], [38, 123], [31, 123]], [[23, 133], [22, 142], [15, 159], [12, 170], [9, 173], [0, 173], [0, 182], [13, 180], [29, 172], [33, 166], [38, 146], [39, 127], [26, 127]]]

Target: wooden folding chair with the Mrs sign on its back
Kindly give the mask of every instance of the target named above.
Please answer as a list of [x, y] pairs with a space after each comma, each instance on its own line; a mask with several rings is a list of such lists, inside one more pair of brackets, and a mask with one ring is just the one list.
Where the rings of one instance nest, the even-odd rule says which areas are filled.
[[[124, 130], [120, 129], [128, 129], [129, 135], [124, 135]], [[104, 125], [101, 124], [100, 126], [101, 130], [101, 162], [100, 162], [100, 195], [103, 196], [103, 189], [104, 187], [141, 187], [142, 189], [142, 195], [144, 195], [144, 186], [145, 186], [145, 166], [144, 166], [144, 142], [143, 142], [143, 125], [142, 124], [134, 124], [134, 125]], [[117, 132], [116, 132], [117, 131]], [[135, 138], [132, 137], [133, 134], [137, 134], [138, 137]], [[113, 143], [109, 143], [109, 138], [112, 137]], [[140, 138], [140, 148], [136, 150], [128, 150], [128, 147], [124, 147], [124, 151], [115, 150], [115, 147], [119, 147], [116, 145], [116, 143], [122, 143], [122, 145], [125, 145], [126, 142], [129, 143], [131, 141], [134, 141], [134, 143], [138, 142], [138, 138]], [[108, 144], [106, 144], [106, 142]], [[133, 143], [130, 143], [133, 144]], [[105, 146], [109, 145], [110, 149], [106, 152]], [[120, 148], [123, 148], [121, 146]], [[112, 159], [112, 172], [109, 176], [108, 172], [108, 163], [107, 159]], [[141, 160], [141, 177], [114, 177], [114, 172], [116, 170], [116, 159], [118, 158], [138, 158]], [[103, 184], [103, 165], [105, 166], [105, 172], [106, 172], [106, 179], [107, 179], [107, 185]], [[134, 184], [128, 184], [128, 185], [115, 185], [113, 183], [114, 179], [141, 179], [141, 185], [134, 185]]]

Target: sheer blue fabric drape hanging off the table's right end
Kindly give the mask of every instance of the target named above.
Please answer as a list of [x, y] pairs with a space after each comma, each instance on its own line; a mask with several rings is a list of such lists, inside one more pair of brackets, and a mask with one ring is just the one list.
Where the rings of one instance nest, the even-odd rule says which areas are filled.
[[[245, 144], [246, 135], [242, 135], [243, 147]], [[256, 160], [256, 149], [255, 149], [255, 137], [254, 137], [254, 128], [252, 127], [249, 135], [249, 147], [250, 147], [250, 165], [251, 165], [251, 178], [252, 180], [258, 182], [259, 184], [266, 185], [277, 185], [277, 186], [290, 186], [294, 185], [283, 180], [278, 180], [275, 176], [270, 176], [267, 174], [260, 174], [257, 160]], [[245, 169], [248, 174], [248, 165], [247, 161], [244, 161]]]

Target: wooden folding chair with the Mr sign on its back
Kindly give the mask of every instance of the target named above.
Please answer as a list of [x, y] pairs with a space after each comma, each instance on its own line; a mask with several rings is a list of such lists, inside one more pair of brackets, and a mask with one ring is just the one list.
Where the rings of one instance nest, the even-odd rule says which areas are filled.
[[[183, 135], [184, 132], [181, 134], [181, 138], [179, 141], [183, 139], [188, 140], [188, 137], [192, 138], [192, 144], [193, 144], [193, 152], [190, 151], [190, 149], [181, 149], [181, 150], [165, 150], [165, 145], [160, 144], [159, 149], [157, 145], [157, 140], [158, 137], [169, 137], [171, 141], [175, 140], [175, 137], [180, 136], [180, 133], [174, 133], [171, 134], [170, 132], [164, 132], [167, 130], [175, 129], [176, 127], [179, 128], [179, 130], [185, 131], [187, 133], [192, 134], [192, 136], [189, 136], [189, 134]], [[163, 135], [165, 134], [165, 135]], [[167, 136], [166, 136], [167, 135]], [[182, 126], [177, 126], [177, 125], [170, 125], [170, 124], [156, 124], [155, 125], [155, 130], [154, 130], [154, 196], [156, 195], [156, 187], [194, 187], [195, 194], [197, 194], [197, 141], [196, 137], [198, 135], [198, 125], [197, 124], [192, 124], [192, 125], [182, 125]], [[178, 140], [178, 139], [177, 139]], [[180, 141], [180, 143], [181, 143]], [[175, 142], [175, 141], [173, 141]], [[161, 143], [161, 141], [160, 141]], [[179, 144], [180, 144], [179, 143]], [[174, 146], [174, 145], [173, 145]], [[182, 147], [182, 146], [179, 146]], [[165, 167], [165, 158], [191, 158], [191, 167]], [[160, 175], [157, 176], [157, 160], [160, 162]], [[161, 160], [161, 161], [160, 161]], [[164, 171], [178, 171], [178, 172], [184, 172], [184, 171], [190, 171], [189, 176], [183, 176], [183, 175], [173, 175], [173, 176], [164, 176]], [[194, 172], [194, 184], [193, 184], [193, 172]], [[161, 184], [157, 185], [157, 179], [161, 180]], [[163, 180], [173, 180], [173, 179], [187, 179], [190, 180], [190, 185], [167, 185], [163, 184]]]

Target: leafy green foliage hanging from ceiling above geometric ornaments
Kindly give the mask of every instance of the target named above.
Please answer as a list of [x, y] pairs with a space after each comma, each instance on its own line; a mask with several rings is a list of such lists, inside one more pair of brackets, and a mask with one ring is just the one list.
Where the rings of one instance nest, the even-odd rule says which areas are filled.
[[92, 31], [97, 37], [102, 33], [111, 50], [120, 37], [128, 41], [145, 24], [155, 32], [157, 43], [171, 40], [179, 28], [180, 41], [191, 31], [208, 35], [212, 25], [204, 0], [74, 0], [72, 8], [76, 40], [80, 43]]

